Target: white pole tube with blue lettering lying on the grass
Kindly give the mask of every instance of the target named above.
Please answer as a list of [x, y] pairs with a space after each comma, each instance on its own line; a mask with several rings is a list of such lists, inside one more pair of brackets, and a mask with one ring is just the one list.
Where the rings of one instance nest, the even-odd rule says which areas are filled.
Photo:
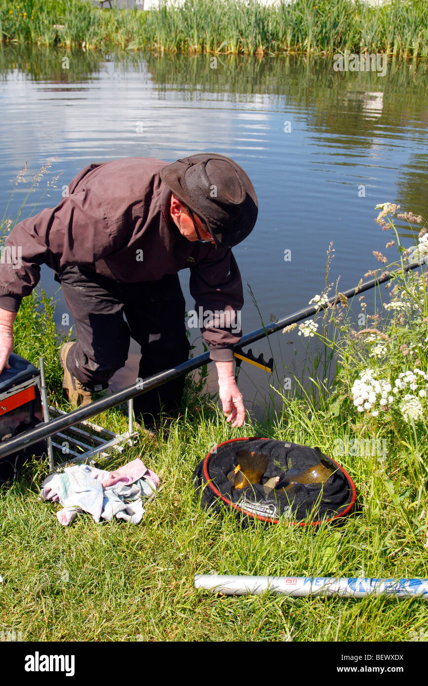
[[308, 595], [338, 595], [366, 598], [393, 595], [394, 598], [428, 600], [428, 579], [334, 578], [329, 576], [221, 576], [197, 574], [195, 588], [224, 595], [260, 595], [265, 591], [305, 598]]

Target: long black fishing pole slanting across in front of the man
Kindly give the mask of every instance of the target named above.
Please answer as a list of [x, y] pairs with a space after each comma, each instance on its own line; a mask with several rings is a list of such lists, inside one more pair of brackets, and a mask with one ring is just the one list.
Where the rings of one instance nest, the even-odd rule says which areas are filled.
[[[409, 270], [416, 269], [420, 266], [422, 266], [422, 263], [414, 263], [411, 265], [407, 265], [403, 267], [403, 271], [408, 272]], [[390, 281], [390, 279], [394, 279], [394, 276], [400, 273], [401, 270], [396, 270], [395, 272], [390, 272], [389, 274], [385, 274], [385, 276], [381, 276], [381, 278], [379, 279], [371, 279], [370, 281], [366, 281], [366, 283], [361, 283], [361, 285], [356, 286], [355, 288], [351, 288], [348, 291], [345, 291], [342, 295], [344, 295], [346, 298], [352, 298], [356, 294], [363, 293], [364, 291], [367, 291], [368, 289], [373, 288], [380, 283], [384, 283], [385, 281]], [[331, 298], [331, 300], [329, 300], [330, 305], [335, 305], [339, 302], [339, 297]], [[254, 343], [258, 340], [261, 340], [261, 338], [269, 336], [271, 335], [271, 333], [275, 333], [275, 331], [279, 331], [284, 327], [288, 327], [289, 324], [294, 324], [302, 321], [303, 319], [307, 319], [308, 317], [311, 317], [313, 314], [316, 314], [318, 310], [326, 309], [326, 307], [328, 307], [328, 305], [324, 305], [324, 307], [320, 307], [319, 305], [305, 307], [304, 309], [300, 309], [297, 312], [294, 312], [294, 314], [290, 314], [288, 317], [278, 320], [278, 322], [272, 322], [272, 324], [268, 324], [266, 327], [262, 327], [261, 329], [257, 329], [256, 331], [252, 331], [251, 333], [247, 333], [245, 336], [241, 338], [239, 343], [234, 346], [234, 349], [235, 351], [240, 351], [242, 346], [246, 346], [250, 343]], [[124, 401], [130, 400], [131, 398], [134, 398], [137, 395], [147, 393], [147, 391], [152, 390], [153, 388], [157, 388], [158, 386], [162, 386], [163, 383], [166, 383], [167, 381], [172, 381], [173, 379], [176, 379], [182, 374], [186, 374], [187, 372], [191, 372], [194, 369], [198, 369], [199, 367], [202, 367], [204, 364], [207, 364], [208, 362], [212, 362], [212, 360], [209, 357], [209, 352], [203, 353], [202, 355], [198, 355], [198, 357], [193, 357], [193, 359], [189, 359], [187, 360], [187, 362], [183, 362], [182, 364], [179, 364], [178, 366], [172, 369], [167, 369], [163, 372], [158, 372], [158, 374], [154, 374], [152, 377], [147, 377], [147, 379], [143, 379], [143, 381], [138, 381], [137, 383], [134, 383], [133, 386], [128, 386], [128, 388], [124, 388], [123, 390], [120, 390], [116, 393], [107, 395], [106, 397], [101, 398], [91, 403], [90, 405], [80, 407], [78, 408], [78, 410], [73, 410], [73, 412], [64, 414], [47, 423], [38, 424], [36, 427], [34, 427], [34, 429], [29, 429], [28, 431], [19, 434], [19, 436], [15, 436], [14, 438], [10, 438], [9, 440], [1, 442], [0, 458], [5, 457], [6, 455], [10, 455], [10, 453], [15, 453], [20, 449], [25, 449], [29, 445], [33, 445], [39, 440], [43, 440], [45, 438], [48, 438], [49, 436], [58, 434], [58, 431], [68, 429], [74, 424], [84, 421], [85, 419], [89, 419], [95, 416], [96, 414], [99, 414], [100, 412], [110, 410], [111, 407], [115, 407], [115, 405], [119, 405], [119, 403], [123, 403]]]

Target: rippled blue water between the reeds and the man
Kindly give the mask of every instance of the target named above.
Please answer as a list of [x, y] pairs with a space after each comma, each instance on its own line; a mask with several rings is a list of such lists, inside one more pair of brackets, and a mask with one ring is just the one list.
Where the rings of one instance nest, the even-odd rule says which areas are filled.
[[[381, 75], [335, 71], [333, 58], [3, 47], [1, 216], [4, 211], [6, 217], [16, 216], [32, 174], [48, 161], [21, 218], [58, 204], [62, 186], [92, 162], [226, 154], [246, 169], [259, 199], [256, 227], [234, 248], [246, 294], [242, 327], [248, 333], [261, 327], [261, 318], [265, 323], [282, 318], [322, 293], [331, 241], [335, 252], [328, 283], [340, 276], [342, 291], [379, 268], [373, 250], [396, 258], [395, 248], [385, 251], [390, 233], [375, 224], [377, 203], [397, 202], [428, 219], [427, 77], [428, 63], [418, 60], [388, 61]], [[25, 163], [25, 181], [10, 198], [10, 180]], [[411, 244], [409, 225], [397, 226], [403, 244]], [[187, 270], [180, 272], [180, 281], [191, 310]], [[41, 285], [55, 294], [58, 327], [66, 330], [67, 307], [48, 268], [42, 270]], [[370, 311], [370, 296], [367, 300]], [[357, 298], [354, 309], [357, 317]], [[202, 352], [199, 331], [191, 330], [191, 340], [193, 354]], [[314, 340], [296, 331], [273, 335], [276, 372], [270, 376], [242, 364], [239, 386], [248, 410], [263, 416], [269, 399], [278, 398], [271, 386], [283, 388], [287, 368], [305, 381], [308, 343], [310, 357]], [[251, 347], [270, 357], [268, 342]], [[112, 389], [134, 383], [138, 357], [132, 342]], [[209, 385], [215, 390], [214, 369]]]

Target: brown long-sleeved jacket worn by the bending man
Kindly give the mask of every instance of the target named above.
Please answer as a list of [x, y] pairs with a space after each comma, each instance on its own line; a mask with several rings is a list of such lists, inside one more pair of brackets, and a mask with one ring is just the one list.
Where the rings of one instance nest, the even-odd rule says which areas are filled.
[[19, 309], [38, 283], [43, 263], [56, 272], [90, 265], [122, 283], [157, 281], [189, 267], [196, 311], [228, 312], [211, 323], [205, 314], [200, 318], [211, 359], [232, 360], [231, 346], [241, 338], [240, 318], [228, 321], [243, 305], [241, 275], [230, 248], [193, 243], [180, 234], [169, 217], [171, 191], [159, 175], [167, 164], [134, 157], [89, 165], [56, 207], [16, 224], [5, 250], [20, 260], [12, 265], [1, 259], [0, 308]]

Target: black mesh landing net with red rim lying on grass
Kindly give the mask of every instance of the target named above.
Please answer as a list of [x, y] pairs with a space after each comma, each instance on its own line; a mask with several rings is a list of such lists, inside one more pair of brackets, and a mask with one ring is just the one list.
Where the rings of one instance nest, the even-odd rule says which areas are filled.
[[[238, 455], [238, 451], [242, 450], [269, 458], [261, 484], [235, 488], [234, 470], [243, 454]], [[331, 474], [324, 483], [294, 481], [303, 471], [319, 465], [320, 460], [324, 465], [321, 469], [329, 469]], [[276, 486], [274, 477], [280, 479]], [[198, 464], [193, 482], [198, 492], [202, 488], [202, 507], [218, 512], [222, 512], [223, 506], [232, 507], [243, 525], [254, 517], [263, 521], [315, 523], [347, 513], [355, 500], [355, 487], [342, 467], [318, 449], [281, 440], [244, 438], [220, 444]]]

